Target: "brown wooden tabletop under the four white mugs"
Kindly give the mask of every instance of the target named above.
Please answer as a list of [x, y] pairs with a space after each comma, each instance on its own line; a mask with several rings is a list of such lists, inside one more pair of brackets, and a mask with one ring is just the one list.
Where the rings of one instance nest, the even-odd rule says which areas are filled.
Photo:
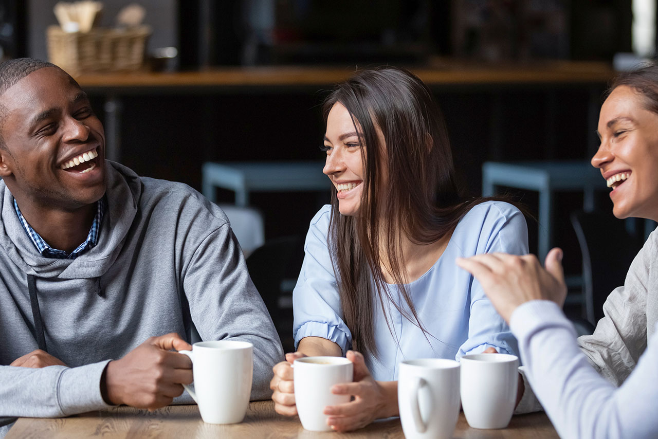
[[[116, 407], [82, 415], [57, 418], [21, 418], [6, 439], [17, 438], [390, 438], [402, 439], [399, 419], [378, 421], [355, 432], [309, 432], [297, 417], [286, 418], [274, 413], [272, 401], [249, 404], [245, 420], [240, 424], [211, 425], [201, 421], [196, 405], [170, 405], [149, 412], [132, 407]], [[557, 438], [557, 432], [544, 413], [530, 413], [512, 418], [502, 430], [470, 428], [461, 413], [453, 438]]]

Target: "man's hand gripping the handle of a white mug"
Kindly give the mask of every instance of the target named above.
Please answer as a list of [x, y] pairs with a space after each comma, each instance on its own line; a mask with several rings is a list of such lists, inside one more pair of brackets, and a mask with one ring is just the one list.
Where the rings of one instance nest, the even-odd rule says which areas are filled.
[[151, 337], [125, 357], [110, 361], [101, 379], [101, 392], [108, 403], [157, 409], [183, 393], [190, 384], [192, 362], [187, 355], [170, 349], [192, 347], [178, 334]]

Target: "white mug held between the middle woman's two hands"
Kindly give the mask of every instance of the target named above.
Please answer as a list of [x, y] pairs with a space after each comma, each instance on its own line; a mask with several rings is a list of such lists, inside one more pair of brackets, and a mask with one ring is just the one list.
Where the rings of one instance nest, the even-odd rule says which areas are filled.
[[352, 382], [354, 367], [343, 357], [303, 357], [293, 362], [295, 405], [301, 425], [306, 430], [330, 431], [327, 405], [349, 402], [349, 395], [334, 395], [334, 384]]

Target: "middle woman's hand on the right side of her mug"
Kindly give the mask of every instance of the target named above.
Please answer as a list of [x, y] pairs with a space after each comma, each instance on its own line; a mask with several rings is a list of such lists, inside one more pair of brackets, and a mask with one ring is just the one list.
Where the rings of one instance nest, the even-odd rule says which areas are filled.
[[329, 416], [327, 423], [336, 431], [348, 431], [378, 418], [397, 415], [397, 382], [372, 379], [359, 352], [347, 351], [345, 357], [354, 363], [354, 382], [336, 384], [331, 390], [333, 394], [351, 395], [354, 400], [325, 407], [324, 414]]

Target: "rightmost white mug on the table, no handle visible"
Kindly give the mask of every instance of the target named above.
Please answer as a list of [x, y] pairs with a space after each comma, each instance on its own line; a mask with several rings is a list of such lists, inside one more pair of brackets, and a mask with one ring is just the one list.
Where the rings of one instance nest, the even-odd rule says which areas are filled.
[[461, 406], [473, 428], [505, 428], [517, 403], [519, 357], [476, 353], [461, 357]]

